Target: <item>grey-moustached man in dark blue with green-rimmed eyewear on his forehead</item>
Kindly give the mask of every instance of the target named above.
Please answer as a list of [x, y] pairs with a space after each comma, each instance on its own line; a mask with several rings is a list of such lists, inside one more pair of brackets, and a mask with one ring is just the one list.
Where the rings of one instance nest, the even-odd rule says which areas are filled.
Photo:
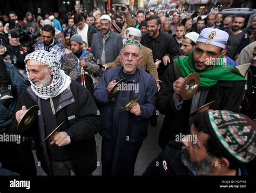
[[[100, 135], [104, 176], [134, 174], [139, 149], [147, 136], [148, 119], [156, 112], [156, 80], [138, 68], [143, 59], [142, 45], [138, 40], [127, 40], [119, 57], [121, 66], [105, 71], [93, 93], [103, 117]], [[124, 78], [126, 81], [117, 85], [118, 94], [109, 96], [117, 81]], [[138, 96], [136, 102], [126, 106]]]

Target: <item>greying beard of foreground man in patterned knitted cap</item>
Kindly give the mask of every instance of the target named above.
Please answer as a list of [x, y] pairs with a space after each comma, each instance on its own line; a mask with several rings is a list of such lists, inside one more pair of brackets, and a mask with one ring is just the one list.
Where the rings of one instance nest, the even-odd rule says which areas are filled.
[[196, 171], [197, 175], [208, 175], [211, 172], [212, 156], [206, 157], [200, 162], [194, 162], [191, 160], [189, 151], [185, 146], [181, 150], [181, 161], [189, 169]]

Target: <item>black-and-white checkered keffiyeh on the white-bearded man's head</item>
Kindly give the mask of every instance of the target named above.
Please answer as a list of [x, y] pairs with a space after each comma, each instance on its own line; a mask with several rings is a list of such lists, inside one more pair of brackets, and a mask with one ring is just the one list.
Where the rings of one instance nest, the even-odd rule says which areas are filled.
[[[65, 91], [65, 89], [69, 88], [71, 84], [71, 78], [68, 75], [66, 75], [63, 70], [60, 70], [61, 64], [54, 54], [45, 50], [37, 50], [35, 52], [28, 54], [28, 56], [26, 56], [24, 60], [25, 63], [28, 60], [35, 60], [35, 61], [39, 61], [38, 64], [43, 63], [45, 65], [49, 65], [52, 71], [52, 82], [51, 82], [51, 85], [49, 86], [38, 87], [30, 80], [31, 88], [39, 98], [47, 100], [49, 98], [58, 96], [60, 93]], [[26, 65], [26, 74], [28, 74], [28, 78], [29, 78], [27, 65]]]

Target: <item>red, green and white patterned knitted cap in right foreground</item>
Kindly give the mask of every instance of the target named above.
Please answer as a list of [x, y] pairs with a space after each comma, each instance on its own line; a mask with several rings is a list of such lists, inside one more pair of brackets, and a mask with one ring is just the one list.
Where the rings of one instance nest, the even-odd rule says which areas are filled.
[[245, 115], [231, 111], [205, 112], [215, 141], [239, 163], [248, 163], [256, 155], [256, 126]]

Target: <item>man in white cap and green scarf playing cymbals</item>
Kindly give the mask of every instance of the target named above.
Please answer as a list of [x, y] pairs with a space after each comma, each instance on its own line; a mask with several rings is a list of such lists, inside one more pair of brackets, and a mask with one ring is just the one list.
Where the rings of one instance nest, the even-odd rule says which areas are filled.
[[[190, 113], [214, 101], [211, 109], [239, 111], [246, 80], [238, 69], [228, 65], [223, 52], [228, 34], [218, 29], [201, 31], [194, 51], [186, 58], [174, 59], [164, 75], [158, 94], [157, 105], [161, 114], [166, 114], [159, 135], [159, 145], [163, 149], [177, 134], [187, 134], [194, 118]], [[200, 85], [190, 100], [181, 98], [180, 89], [185, 78], [197, 72]]]

